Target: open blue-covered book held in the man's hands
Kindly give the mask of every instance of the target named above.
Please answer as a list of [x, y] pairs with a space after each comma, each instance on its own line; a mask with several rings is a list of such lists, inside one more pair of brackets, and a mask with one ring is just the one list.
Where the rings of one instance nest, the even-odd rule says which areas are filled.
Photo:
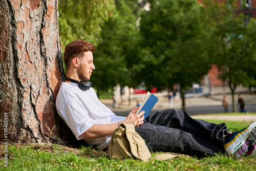
[[157, 103], [157, 101], [158, 101], [158, 98], [154, 94], [147, 92], [144, 100], [142, 101], [142, 103], [140, 105], [139, 110], [137, 111], [137, 113], [135, 115], [138, 115], [140, 112], [145, 111], [145, 113], [143, 115], [146, 118], [146, 116], [153, 109], [153, 107]]

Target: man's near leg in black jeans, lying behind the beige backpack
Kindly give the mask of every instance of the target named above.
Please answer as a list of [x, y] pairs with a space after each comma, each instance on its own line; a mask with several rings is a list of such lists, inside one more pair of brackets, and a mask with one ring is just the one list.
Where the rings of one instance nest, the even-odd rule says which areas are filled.
[[197, 157], [203, 157], [205, 154], [225, 153], [224, 148], [219, 148], [179, 129], [144, 123], [136, 127], [136, 132], [145, 140], [150, 151], [180, 153]]

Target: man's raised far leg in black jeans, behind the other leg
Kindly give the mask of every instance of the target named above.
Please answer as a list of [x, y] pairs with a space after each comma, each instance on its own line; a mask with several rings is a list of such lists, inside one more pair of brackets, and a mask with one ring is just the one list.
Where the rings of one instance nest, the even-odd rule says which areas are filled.
[[224, 145], [223, 135], [227, 134], [225, 123], [216, 124], [201, 119], [193, 119], [187, 112], [175, 109], [158, 111], [149, 115], [145, 121], [154, 125], [182, 130], [221, 148]]

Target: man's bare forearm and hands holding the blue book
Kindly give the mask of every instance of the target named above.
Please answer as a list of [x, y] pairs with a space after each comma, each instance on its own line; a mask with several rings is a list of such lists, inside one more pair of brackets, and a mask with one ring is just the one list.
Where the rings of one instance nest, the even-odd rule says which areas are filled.
[[[133, 123], [134, 121], [137, 121], [138, 124], [135, 126], [139, 126], [143, 123], [144, 116], [142, 116], [145, 112], [140, 112], [138, 115], [135, 116], [136, 112], [138, 111], [138, 108], [135, 108], [130, 112], [130, 114], [127, 116], [127, 118], [120, 123]], [[142, 116], [142, 117], [141, 117]], [[84, 132], [82, 134], [83, 138], [85, 139], [93, 139], [93, 138], [100, 138], [105, 137], [108, 135], [111, 135], [118, 127], [118, 123], [111, 123], [111, 124], [94, 124], [92, 127], [90, 127], [89, 130]]]

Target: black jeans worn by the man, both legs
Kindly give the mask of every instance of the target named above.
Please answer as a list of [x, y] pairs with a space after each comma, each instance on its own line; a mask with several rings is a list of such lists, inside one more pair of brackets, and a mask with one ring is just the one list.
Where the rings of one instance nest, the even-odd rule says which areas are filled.
[[209, 123], [193, 119], [175, 109], [148, 115], [136, 132], [145, 140], [148, 149], [203, 157], [225, 153], [225, 123]]

